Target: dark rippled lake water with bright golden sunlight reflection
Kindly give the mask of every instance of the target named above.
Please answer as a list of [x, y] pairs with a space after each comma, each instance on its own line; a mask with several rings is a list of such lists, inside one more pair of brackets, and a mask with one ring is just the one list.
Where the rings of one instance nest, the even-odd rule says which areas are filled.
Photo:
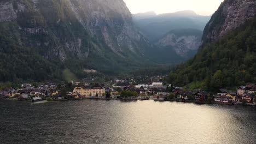
[[0, 143], [256, 143], [256, 107], [0, 101]]

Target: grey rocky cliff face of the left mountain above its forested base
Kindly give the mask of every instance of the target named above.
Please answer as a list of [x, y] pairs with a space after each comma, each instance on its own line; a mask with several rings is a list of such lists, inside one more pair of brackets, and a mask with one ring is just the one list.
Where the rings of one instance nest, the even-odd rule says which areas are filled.
[[120, 0], [2, 0], [0, 35], [69, 69], [117, 70], [150, 47]]

